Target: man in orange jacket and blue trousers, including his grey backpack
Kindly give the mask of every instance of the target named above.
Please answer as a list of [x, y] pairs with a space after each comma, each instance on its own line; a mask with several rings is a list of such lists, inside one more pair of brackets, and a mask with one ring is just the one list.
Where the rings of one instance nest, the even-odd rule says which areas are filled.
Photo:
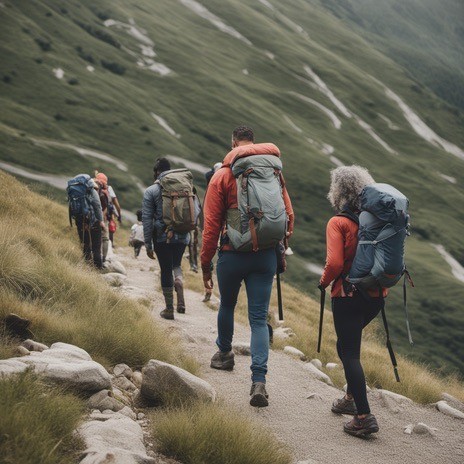
[[[268, 405], [267, 315], [277, 266], [276, 245], [293, 231], [292, 204], [281, 168], [279, 149], [272, 143], [255, 144], [253, 130], [239, 126], [232, 133], [232, 150], [213, 175], [204, 203], [201, 268], [205, 288], [209, 290], [213, 289], [212, 260], [220, 239], [216, 266], [221, 294], [216, 340], [219, 351], [212, 357], [211, 367], [234, 367], [234, 309], [245, 281], [251, 326], [252, 406]], [[265, 194], [263, 185], [267, 186]]]

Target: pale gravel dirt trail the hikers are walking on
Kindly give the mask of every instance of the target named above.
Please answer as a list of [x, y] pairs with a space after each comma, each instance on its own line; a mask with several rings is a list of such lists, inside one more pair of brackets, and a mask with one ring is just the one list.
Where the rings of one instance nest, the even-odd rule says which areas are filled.
[[[127, 269], [127, 280], [121, 291], [136, 298], [150, 298], [153, 301], [153, 317], [184, 338], [186, 349], [202, 366], [201, 376], [214, 386], [219, 397], [266, 424], [289, 446], [295, 462], [464, 462], [463, 420], [445, 416], [433, 406], [400, 404], [382, 398], [375, 391], [369, 393], [369, 401], [379, 421], [380, 432], [367, 440], [346, 435], [342, 425], [347, 418], [330, 412], [333, 399], [340, 397], [341, 391], [316, 380], [303, 368], [302, 361], [296, 361], [281, 351], [270, 353], [267, 383], [269, 407], [252, 408], [248, 404], [250, 357], [236, 356], [233, 372], [209, 368], [210, 358], [216, 351], [217, 313], [201, 302], [202, 295], [186, 290], [186, 314], [176, 314], [175, 321], [165, 321], [158, 316], [163, 308], [163, 300], [158, 291], [157, 262], [149, 260], [143, 251], [140, 258], [135, 260], [132, 250], [128, 248], [116, 250], [116, 255]], [[236, 324], [234, 341], [249, 342], [249, 337], [249, 328]], [[308, 399], [313, 393], [316, 396]], [[434, 436], [404, 433], [408, 424], [418, 422], [436, 428]]]

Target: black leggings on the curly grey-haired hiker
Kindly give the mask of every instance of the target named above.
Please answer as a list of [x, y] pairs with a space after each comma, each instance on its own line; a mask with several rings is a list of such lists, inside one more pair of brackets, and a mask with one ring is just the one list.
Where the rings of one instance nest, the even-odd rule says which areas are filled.
[[369, 414], [366, 379], [361, 366], [361, 336], [364, 327], [379, 314], [383, 298], [353, 297], [332, 298], [332, 312], [337, 333], [337, 352], [345, 369], [347, 393], [352, 395], [358, 414]]

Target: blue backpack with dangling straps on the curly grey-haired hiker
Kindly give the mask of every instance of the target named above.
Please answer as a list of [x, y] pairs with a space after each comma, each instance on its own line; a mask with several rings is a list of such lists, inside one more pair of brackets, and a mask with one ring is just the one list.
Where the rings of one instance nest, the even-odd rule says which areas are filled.
[[[346, 280], [353, 284], [366, 298], [368, 289], [390, 288], [404, 275], [403, 298], [406, 328], [409, 342], [413, 345], [406, 302], [406, 278], [412, 283], [404, 263], [404, 242], [409, 235], [409, 200], [388, 184], [368, 185], [361, 192], [361, 214], [358, 247]], [[342, 213], [342, 215], [345, 215]], [[346, 216], [350, 217], [349, 214]], [[353, 219], [353, 218], [352, 218]], [[395, 354], [390, 341], [385, 308], [382, 319], [387, 336], [387, 348], [393, 364], [396, 380], [400, 378]]]

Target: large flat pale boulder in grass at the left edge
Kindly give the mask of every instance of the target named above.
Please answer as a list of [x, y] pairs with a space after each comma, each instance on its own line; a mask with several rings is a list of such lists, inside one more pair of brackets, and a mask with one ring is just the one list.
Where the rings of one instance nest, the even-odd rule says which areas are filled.
[[[111, 377], [106, 369], [92, 361], [86, 351], [67, 343], [54, 343], [45, 351], [33, 351], [30, 356], [12, 358], [9, 361], [24, 364], [24, 368], [20, 368], [16, 363], [13, 364], [17, 372], [31, 366], [37, 374], [79, 391], [99, 391], [111, 387]], [[0, 361], [0, 372], [1, 366], [2, 361]]]

